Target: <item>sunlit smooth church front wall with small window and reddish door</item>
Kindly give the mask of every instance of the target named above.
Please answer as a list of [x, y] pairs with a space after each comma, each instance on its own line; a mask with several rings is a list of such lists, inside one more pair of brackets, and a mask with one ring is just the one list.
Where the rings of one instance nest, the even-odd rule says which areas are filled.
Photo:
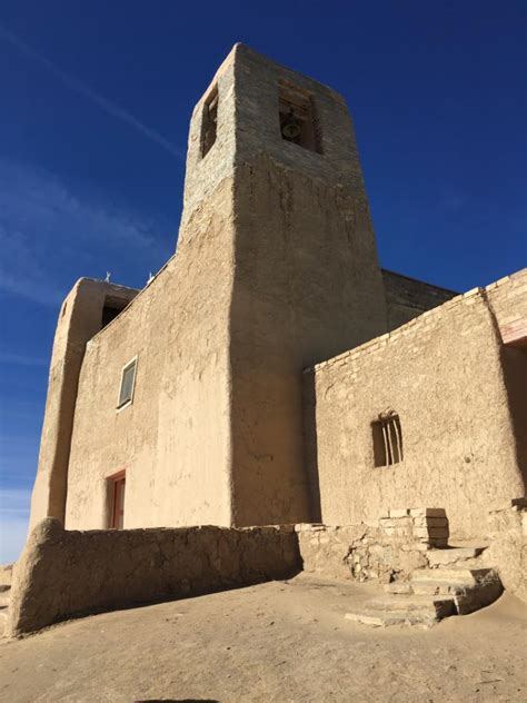
[[[188, 221], [177, 255], [87, 346], [68, 476], [67, 528], [110, 524], [126, 469], [125, 527], [229, 525], [228, 313], [232, 182]], [[117, 410], [137, 356], [133, 403]]]

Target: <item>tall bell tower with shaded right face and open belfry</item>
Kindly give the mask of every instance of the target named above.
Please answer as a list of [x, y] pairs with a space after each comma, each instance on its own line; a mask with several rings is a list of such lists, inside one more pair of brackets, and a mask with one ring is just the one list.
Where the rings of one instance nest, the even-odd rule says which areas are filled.
[[219, 212], [232, 523], [306, 521], [302, 369], [384, 334], [385, 296], [345, 100], [243, 44], [192, 115], [178, 247]]

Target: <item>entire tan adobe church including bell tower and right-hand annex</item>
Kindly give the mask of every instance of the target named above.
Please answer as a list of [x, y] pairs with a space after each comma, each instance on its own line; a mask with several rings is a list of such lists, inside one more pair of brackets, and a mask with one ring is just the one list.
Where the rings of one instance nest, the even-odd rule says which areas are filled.
[[465, 295], [380, 268], [330, 88], [236, 44], [196, 106], [175, 256], [59, 314], [31, 524], [354, 525], [525, 495], [527, 269]]

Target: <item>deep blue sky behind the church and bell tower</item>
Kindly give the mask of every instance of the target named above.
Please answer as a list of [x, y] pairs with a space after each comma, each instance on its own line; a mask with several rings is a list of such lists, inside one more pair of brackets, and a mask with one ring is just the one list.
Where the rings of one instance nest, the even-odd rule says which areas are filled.
[[172, 254], [191, 110], [236, 41], [345, 95], [381, 265], [526, 266], [525, 0], [0, 3], [0, 563], [26, 535], [59, 305]]

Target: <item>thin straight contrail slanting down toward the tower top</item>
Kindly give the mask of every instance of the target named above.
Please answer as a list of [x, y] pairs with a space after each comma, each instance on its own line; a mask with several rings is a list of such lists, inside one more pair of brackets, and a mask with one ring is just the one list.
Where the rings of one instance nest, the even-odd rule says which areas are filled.
[[150, 129], [149, 127], [143, 125], [141, 121], [139, 121], [136, 117], [133, 117], [133, 115], [131, 115], [127, 110], [120, 108], [115, 102], [107, 100], [99, 93], [91, 90], [91, 88], [89, 88], [86, 83], [83, 83], [81, 80], [79, 80], [71, 73], [63, 71], [59, 66], [53, 63], [53, 61], [50, 61], [43, 55], [32, 49], [29, 44], [27, 44], [24, 41], [19, 39], [16, 34], [10, 32], [8, 29], [6, 29], [6, 27], [3, 27], [1, 23], [0, 23], [0, 37], [3, 37], [3, 39], [7, 39], [11, 44], [17, 47], [17, 49], [19, 49], [26, 56], [30, 57], [31, 59], [34, 59], [36, 61], [44, 66], [51, 73], [60, 78], [62, 82], [64, 82], [68, 86], [68, 88], [71, 88], [71, 90], [74, 90], [79, 95], [84, 96], [84, 98], [88, 98], [89, 100], [98, 105], [102, 110], [105, 110], [105, 112], [108, 112], [108, 115], [111, 115], [112, 117], [117, 117], [117, 119], [120, 119], [127, 125], [130, 125], [130, 127], [133, 127], [135, 129], [137, 129], [139, 132], [141, 132], [141, 135], [143, 135], [151, 141], [155, 141], [157, 145], [159, 145], [160, 147], [169, 151], [172, 156], [176, 156], [179, 159], [185, 158], [185, 155], [172, 142], [168, 141], [168, 139], [165, 139], [165, 137], [162, 137], [161, 135], [158, 135], [158, 132], [153, 131], [153, 129]]

